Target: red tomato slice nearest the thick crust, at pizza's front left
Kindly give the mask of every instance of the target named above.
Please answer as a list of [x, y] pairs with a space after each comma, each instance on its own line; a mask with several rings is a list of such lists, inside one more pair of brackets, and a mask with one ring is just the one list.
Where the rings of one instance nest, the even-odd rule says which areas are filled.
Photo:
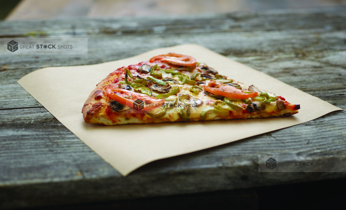
[[118, 87], [115, 87], [113, 84], [109, 85], [106, 88], [106, 93], [115, 101], [130, 107], [133, 107], [134, 101], [140, 99], [144, 101], [147, 105], [144, 105], [143, 110], [151, 110], [160, 107], [165, 102], [164, 99], [156, 99], [142, 93], [136, 93], [130, 90], [120, 89]]

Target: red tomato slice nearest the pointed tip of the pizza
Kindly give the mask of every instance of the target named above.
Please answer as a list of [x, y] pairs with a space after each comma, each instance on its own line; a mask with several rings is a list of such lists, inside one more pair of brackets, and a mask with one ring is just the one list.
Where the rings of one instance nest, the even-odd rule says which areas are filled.
[[239, 90], [233, 86], [219, 83], [213, 81], [212, 79], [210, 80], [210, 82], [204, 85], [204, 90], [216, 95], [234, 99], [251, 98], [258, 95], [258, 93], [256, 92], [244, 93], [242, 90]]

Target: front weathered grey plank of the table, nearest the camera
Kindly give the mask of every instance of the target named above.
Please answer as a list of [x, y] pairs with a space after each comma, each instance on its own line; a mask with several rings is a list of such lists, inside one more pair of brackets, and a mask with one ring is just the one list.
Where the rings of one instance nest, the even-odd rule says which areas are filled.
[[[304, 173], [295, 173], [277, 179], [276, 173], [264, 175], [257, 172], [257, 155], [346, 155], [346, 116], [338, 118], [338, 112], [238, 142], [155, 161], [124, 178], [44, 108], [35, 109], [28, 108], [22, 113], [10, 109], [6, 110], [4, 117], [1, 116], [0, 133], [3, 135], [1, 137], [6, 137], [6, 142], [1, 144], [0, 154], [0, 177], [4, 184], [2, 192], [12, 189], [15, 193], [8, 198], [8, 203], [13, 199], [33, 199], [31, 204], [36, 205], [85, 202], [85, 197], [88, 197], [88, 201], [127, 199], [345, 175], [321, 173], [306, 176]], [[20, 119], [13, 121], [16, 116]], [[8, 133], [12, 135], [7, 136]], [[13, 177], [16, 179], [13, 180]], [[13, 185], [17, 187], [13, 188]], [[37, 190], [35, 195], [32, 195], [33, 188]], [[139, 192], [139, 189], [142, 191]], [[45, 199], [37, 203], [37, 200], [34, 201], [37, 196]]]

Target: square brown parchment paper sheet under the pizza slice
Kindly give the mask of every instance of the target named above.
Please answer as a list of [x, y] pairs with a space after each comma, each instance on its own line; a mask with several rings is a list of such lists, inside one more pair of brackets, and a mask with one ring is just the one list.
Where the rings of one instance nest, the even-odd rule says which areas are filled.
[[[228, 78], [283, 96], [291, 104], [300, 104], [301, 109], [298, 114], [285, 118], [114, 126], [84, 123], [81, 113], [83, 104], [96, 84], [109, 73], [119, 67], [171, 52], [193, 56]], [[123, 176], [154, 160], [226, 144], [342, 110], [260, 71], [194, 44], [155, 49], [135, 57], [102, 64], [43, 68], [27, 74], [18, 83]]]

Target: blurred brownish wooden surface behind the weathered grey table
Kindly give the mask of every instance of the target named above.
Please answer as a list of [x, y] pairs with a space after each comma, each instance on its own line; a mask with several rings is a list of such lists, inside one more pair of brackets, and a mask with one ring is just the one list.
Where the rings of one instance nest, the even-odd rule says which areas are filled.
[[21, 0], [6, 20], [143, 17], [346, 5], [345, 0]]

